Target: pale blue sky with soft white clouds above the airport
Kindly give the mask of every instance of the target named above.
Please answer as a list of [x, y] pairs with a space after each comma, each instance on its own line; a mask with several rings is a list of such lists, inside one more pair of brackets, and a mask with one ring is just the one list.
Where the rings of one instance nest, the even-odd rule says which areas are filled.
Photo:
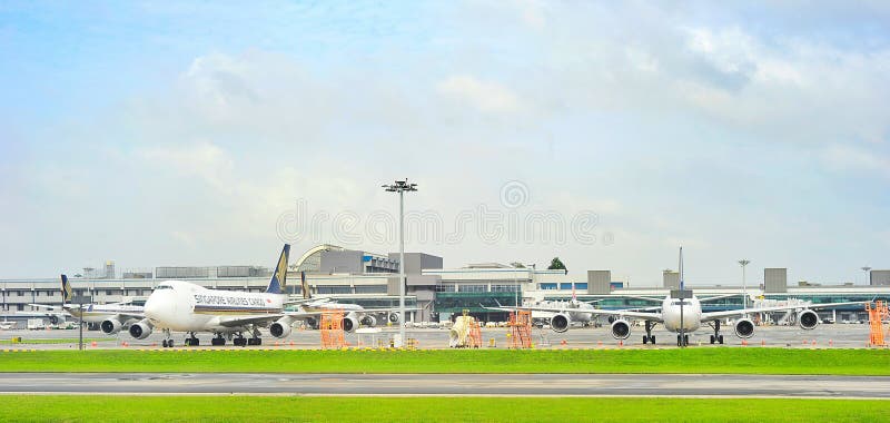
[[0, 3], [0, 278], [558, 256], [656, 286], [890, 268], [881, 1]]

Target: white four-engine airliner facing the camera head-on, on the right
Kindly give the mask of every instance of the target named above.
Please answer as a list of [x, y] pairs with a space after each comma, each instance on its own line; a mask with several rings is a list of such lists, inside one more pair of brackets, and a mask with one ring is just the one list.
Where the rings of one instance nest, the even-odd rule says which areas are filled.
[[[684, 291], [683, 248], [681, 247], [680, 292], [683, 291]], [[655, 343], [655, 336], [652, 335], [652, 329], [656, 325], [662, 324], [664, 328], [668, 329], [669, 332], [674, 332], [678, 334], [676, 335], [678, 345], [688, 345], [689, 344], [688, 334], [695, 332], [705, 325], [710, 326], [714, 331], [714, 334], [711, 335], [710, 337], [711, 344], [713, 343], [722, 344], [723, 335], [720, 334], [720, 322], [724, 318], [739, 317], [734, 324], [735, 336], [740, 338], [750, 338], [751, 336], [754, 335], [754, 323], [749, 317], [751, 314], [793, 309], [798, 312], [797, 321], [800, 327], [803, 329], [813, 329], [815, 328], [815, 326], [819, 325], [819, 315], [815, 312], [813, 312], [813, 309], [863, 304], [862, 302], [853, 302], [853, 303], [827, 303], [827, 304], [808, 305], [808, 306], [793, 305], [793, 306], [759, 307], [759, 308], [743, 307], [742, 309], [704, 313], [702, 312], [702, 304], [701, 304], [702, 301], [700, 301], [694, 295], [692, 295], [689, 298], [681, 299], [679, 297], [673, 297], [672, 294], [669, 294], [663, 299], [661, 299], [661, 307], [656, 307], [660, 308], [660, 311], [653, 313], [646, 313], [635, 309], [611, 311], [611, 309], [577, 309], [568, 307], [561, 307], [561, 308], [520, 307], [520, 308], [555, 313], [555, 315], [551, 319], [551, 327], [553, 327], [553, 329], [556, 332], [567, 331], [572, 324], [572, 317], [577, 314], [585, 314], [587, 315], [587, 318], [592, 316], [606, 315], [610, 316], [610, 319], [612, 322], [612, 327], [611, 327], [612, 336], [615, 337], [616, 340], [626, 340], [627, 337], [630, 337], [631, 325], [626, 321], [627, 318], [645, 321], [646, 334], [643, 335], [643, 344]], [[705, 298], [703, 301], [716, 299], [725, 296]], [[655, 299], [655, 298], [645, 298], [645, 299]], [[681, 326], [681, 314], [682, 314], [682, 326]], [[685, 334], [685, 336], [681, 336], [680, 335], [681, 333]]]

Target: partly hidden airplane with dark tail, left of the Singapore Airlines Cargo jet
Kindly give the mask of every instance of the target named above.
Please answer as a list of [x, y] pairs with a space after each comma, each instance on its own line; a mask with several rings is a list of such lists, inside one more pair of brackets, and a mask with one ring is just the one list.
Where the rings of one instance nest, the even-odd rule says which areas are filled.
[[[131, 302], [112, 304], [72, 304], [73, 291], [68, 282], [68, 276], [61, 275], [62, 305], [28, 304], [32, 307], [47, 309], [42, 313], [49, 316], [50, 323], [56, 324], [61, 317], [61, 313], [68, 313], [73, 317], [80, 317], [86, 323], [98, 323], [106, 334], [112, 335], [129, 327], [142, 315], [142, 306], [132, 305]], [[34, 314], [33, 312], [26, 314]], [[38, 313], [40, 314], [40, 313]]]

